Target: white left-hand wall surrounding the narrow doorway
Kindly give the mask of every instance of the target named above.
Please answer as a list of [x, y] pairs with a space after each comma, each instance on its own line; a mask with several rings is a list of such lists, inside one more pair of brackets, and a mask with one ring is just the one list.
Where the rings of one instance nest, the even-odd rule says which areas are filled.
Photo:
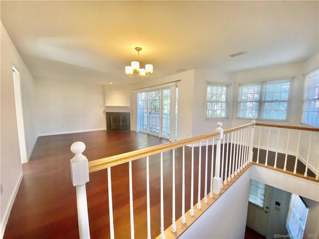
[[[19, 71], [22, 111], [24, 118], [27, 156], [37, 139], [33, 105], [33, 77], [13, 45], [1, 23], [1, 228], [6, 224], [9, 212], [22, 178], [18, 129], [15, 111], [12, 64]], [[1, 229], [1, 233], [3, 230]]]

